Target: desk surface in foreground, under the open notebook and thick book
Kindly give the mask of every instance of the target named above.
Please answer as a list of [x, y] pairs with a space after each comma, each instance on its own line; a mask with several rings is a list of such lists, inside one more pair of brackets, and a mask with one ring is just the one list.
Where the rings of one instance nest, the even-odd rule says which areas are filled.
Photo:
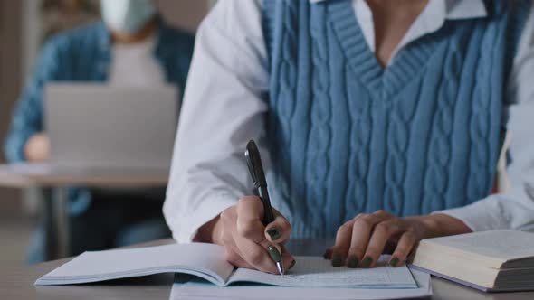
[[[174, 243], [172, 239], [161, 239], [137, 247], [149, 247]], [[301, 239], [288, 244], [296, 255], [321, 255], [328, 241]], [[161, 274], [148, 277], [113, 280], [104, 283], [78, 286], [33, 286], [33, 282], [52, 269], [61, 266], [70, 258], [55, 260], [33, 267], [8, 267], [0, 270], [0, 299], [153, 299], [167, 300], [173, 284], [173, 274]], [[432, 278], [434, 295], [432, 299], [440, 300], [532, 300], [534, 292], [487, 294], [453, 282]], [[213, 298], [211, 298], [213, 299]], [[328, 299], [325, 299], [328, 300]]]

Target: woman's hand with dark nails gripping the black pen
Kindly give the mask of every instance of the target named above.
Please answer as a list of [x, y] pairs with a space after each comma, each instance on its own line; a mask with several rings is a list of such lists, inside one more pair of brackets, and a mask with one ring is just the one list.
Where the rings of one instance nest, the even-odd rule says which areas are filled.
[[[248, 196], [221, 212], [201, 230], [211, 231], [208, 233], [211, 240], [207, 241], [224, 246], [226, 260], [234, 266], [279, 274], [273, 262], [277, 259], [273, 256], [281, 255], [287, 268], [291, 268], [295, 260], [283, 246], [290, 238], [291, 225], [279, 211], [273, 212], [274, 221], [263, 226], [262, 201], [256, 196]], [[268, 251], [270, 246], [274, 246], [278, 253], [272, 249]]]

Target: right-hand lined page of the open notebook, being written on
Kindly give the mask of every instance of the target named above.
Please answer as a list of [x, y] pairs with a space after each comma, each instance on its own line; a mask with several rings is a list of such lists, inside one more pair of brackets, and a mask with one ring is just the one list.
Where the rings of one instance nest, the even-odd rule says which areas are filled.
[[230, 277], [232, 282], [254, 282], [275, 286], [415, 288], [414, 277], [407, 267], [389, 267], [389, 256], [382, 256], [377, 267], [332, 267], [319, 257], [296, 257], [297, 264], [284, 276], [239, 268]]

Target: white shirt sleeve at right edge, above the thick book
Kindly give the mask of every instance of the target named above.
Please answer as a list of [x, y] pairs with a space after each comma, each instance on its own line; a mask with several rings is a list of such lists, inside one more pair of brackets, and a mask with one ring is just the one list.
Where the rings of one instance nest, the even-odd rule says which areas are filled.
[[508, 174], [511, 190], [453, 210], [436, 211], [462, 220], [474, 231], [534, 231], [534, 5], [520, 39], [509, 83], [508, 130], [511, 133]]

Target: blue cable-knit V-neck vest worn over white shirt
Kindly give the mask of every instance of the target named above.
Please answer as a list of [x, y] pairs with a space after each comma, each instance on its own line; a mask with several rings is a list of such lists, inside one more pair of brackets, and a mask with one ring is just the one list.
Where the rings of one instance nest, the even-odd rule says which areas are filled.
[[270, 189], [292, 236], [333, 237], [360, 212], [486, 197], [528, 5], [487, 1], [487, 17], [445, 21], [383, 70], [351, 0], [264, 1]]

